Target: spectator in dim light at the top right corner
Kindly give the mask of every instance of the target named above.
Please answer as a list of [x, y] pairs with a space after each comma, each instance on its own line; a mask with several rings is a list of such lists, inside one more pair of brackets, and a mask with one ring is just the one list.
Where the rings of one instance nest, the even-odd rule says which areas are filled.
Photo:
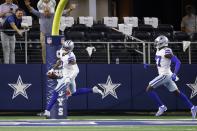
[[181, 31], [189, 34], [197, 32], [197, 17], [195, 15], [195, 8], [192, 5], [185, 7], [186, 15], [181, 21]]

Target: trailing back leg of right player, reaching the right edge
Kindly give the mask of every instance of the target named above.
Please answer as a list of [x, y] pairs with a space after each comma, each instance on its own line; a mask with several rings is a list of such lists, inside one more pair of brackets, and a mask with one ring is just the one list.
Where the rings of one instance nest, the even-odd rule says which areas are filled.
[[192, 118], [195, 119], [196, 118], [196, 113], [197, 113], [197, 106], [194, 106], [191, 101], [188, 99], [188, 97], [181, 92], [176, 83], [174, 81], [170, 81], [168, 84], [168, 90], [170, 92], [173, 92], [176, 96], [178, 96], [185, 104], [186, 106], [191, 109], [191, 114], [192, 114]]

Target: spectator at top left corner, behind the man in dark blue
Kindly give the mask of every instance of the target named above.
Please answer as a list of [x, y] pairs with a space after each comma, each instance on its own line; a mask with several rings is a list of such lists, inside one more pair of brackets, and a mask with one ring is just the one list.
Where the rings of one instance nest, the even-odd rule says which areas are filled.
[[17, 8], [18, 6], [13, 4], [13, 0], [5, 0], [5, 3], [0, 5], [0, 18], [5, 21], [5, 18], [13, 15]]

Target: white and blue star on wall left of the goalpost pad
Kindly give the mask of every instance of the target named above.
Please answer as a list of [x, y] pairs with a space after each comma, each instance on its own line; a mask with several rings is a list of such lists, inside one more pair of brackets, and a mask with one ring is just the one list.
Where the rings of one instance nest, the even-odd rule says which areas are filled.
[[31, 86], [31, 84], [24, 84], [20, 75], [18, 77], [18, 80], [17, 80], [16, 84], [8, 84], [8, 85], [14, 89], [14, 94], [12, 96], [12, 99], [16, 98], [18, 95], [22, 95], [26, 99], [28, 99], [26, 89], [29, 86]]

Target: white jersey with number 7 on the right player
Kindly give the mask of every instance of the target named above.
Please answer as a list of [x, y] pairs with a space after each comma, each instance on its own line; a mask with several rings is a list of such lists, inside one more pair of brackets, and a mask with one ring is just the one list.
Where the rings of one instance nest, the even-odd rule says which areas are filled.
[[172, 49], [165, 47], [161, 50], [157, 50], [155, 60], [157, 64], [157, 69], [159, 75], [171, 75], [171, 60], [169, 58], [166, 58], [166, 54], [172, 54]]

